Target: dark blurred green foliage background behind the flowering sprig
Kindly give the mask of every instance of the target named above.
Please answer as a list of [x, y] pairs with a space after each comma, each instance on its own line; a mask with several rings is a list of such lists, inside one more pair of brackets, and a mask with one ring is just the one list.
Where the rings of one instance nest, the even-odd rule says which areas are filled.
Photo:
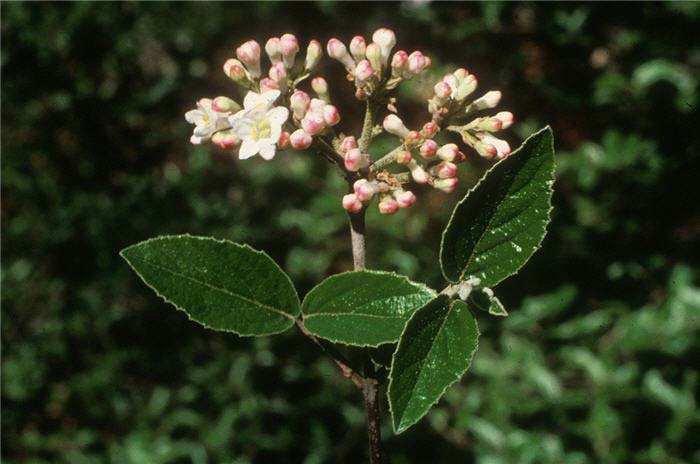
[[[342, 181], [311, 154], [234, 160], [184, 112], [234, 94], [248, 38], [396, 30], [500, 88], [517, 146], [550, 124], [543, 248], [479, 314], [474, 365], [394, 463], [700, 463], [700, 3], [2, 2], [2, 458], [324, 463], [366, 456], [360, 395], [307, 340], [205, 330], [119, 258], [159, 234], [267, 251], [303, 295], [351, 266]], [[344, 122], [362, 108], [320, 69]], [[400, 114], [427, 117], [426, 85]], [[378, 141], [375, 150], [381, 149]], [[472, 157], [474, 160], [474, 157]], [[369, 265], [439, 287], [458, 192], [368, 219]]]

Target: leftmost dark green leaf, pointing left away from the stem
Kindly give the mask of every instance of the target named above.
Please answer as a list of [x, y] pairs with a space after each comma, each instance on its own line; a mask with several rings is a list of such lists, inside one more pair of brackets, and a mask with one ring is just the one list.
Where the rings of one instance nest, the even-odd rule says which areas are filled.
[[289, 277], [247, 245], [176, 235], [146, 240], [121, 255], [158, 296], [210, 329], [270, 335], [294, 325], [300, 312]]

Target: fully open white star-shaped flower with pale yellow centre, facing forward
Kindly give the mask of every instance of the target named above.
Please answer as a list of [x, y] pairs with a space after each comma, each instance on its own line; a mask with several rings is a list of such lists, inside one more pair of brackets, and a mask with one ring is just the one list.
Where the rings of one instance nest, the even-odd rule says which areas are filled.
[[243, 100], [243, 109], [229, 117], [233, 133], [243, 142], [238, 152], [240, 159], [248, 159], [258, 153], [266, 160], [275, 157], [282, 124], [289, 116], [287, 108], [272, 108], [279, 96], [279, 90], [261, 94], [248, 92]]

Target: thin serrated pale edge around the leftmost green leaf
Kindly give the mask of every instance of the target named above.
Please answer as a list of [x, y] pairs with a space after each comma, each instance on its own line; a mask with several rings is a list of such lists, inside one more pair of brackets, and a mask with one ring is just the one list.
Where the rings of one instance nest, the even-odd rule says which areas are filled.
[[[250, 245], [248, 245], [246, 243], [236, 243], [236, 242], [232, 242], [231, 240], [217, 239], [215, 237], [203, 237], [203, 236], [198, 236], [198, 235], [180, 234], [180, 235], [160, 235], [158, 237], [152, 237], [152, 238], [149, 238], [149, 239], [144, 240], [142, 242], [135, 243], [133, 245], [129, 245], [128, 247], [122, 249], [119, 252], [119, 256], [121, 256], [124, 259], [124, 261], [126, 261], [126, 263], [129, 265], [131, 270], [134, 271], [134, 273], [139, 277], [139, 279], [141, 279], [141, 282], [143, 282], [148, 288], [153, 290], [153, 292], [156, 294], [156, 296], [158, 296], [160, 299], [162, 299], [166, 303], [172, 305], [178, 311], [182, 311], [183, 313], [185, 313], [185, 315], [187, 316], [187, 319], [199, 324], [200, 326], [204, 327], [205, 329], [214, 330], [217, 332], [234, 333], [234, 334], [238, 335], [239, 337], [266, 337], [268, 335], [276, 335], [276, 334], [279, 334], [282, 332], [286, 332], [295, 324], [296, 316], [293, 316], [293, 315], [286, 313], [282, 310], [278, 310], [279, 312], [277, 312], [277, 314], [288, 318], [290, 320], [289, 326], [287, 326], [283, 329], [280, 329], [276, 332], [267, 332], [263, 335], [258, 335], [255, 333], [244, 333], [244, 332], [239, 332], [239, 331], [233, 330], [233, 329], [219, 329], [219, 328], [212, 327], [210, 325], [207, 325], [203, 322], [200, 322], [200, 321], [192, 318], [192, 316], [190, 316], [190, 314], [187, 312], [187, 310], [185, 308], [182, 308], [182, 307], [178, 306], [177, 304], [175, 304], [174, 302], [170, 301], [165, 295], [162, 295], [154, 286], [149, 284], [146, 281], [146, 279], [144, 279], [144, 277], [141, 275], [141, 273], [134, 267], [134, 265], [131, 263], [129, 258], [127, 258], [126, 255], [124, 254], [124, 252], [126, 252], [132, 248], [146, 245], [146, 244], [151, 243], [151, 242], [156, 242], [156, 241], [161, 241], [161, 240], [169, 240], [169, 239], [177, 239], [177, 240], [179, 240], [179, 239], [195, 239], [195, 240], [201, 240], [201, 241], [214, 241], [214, 242], [218, 242], [218, 243], [226, 243], [226, 244], [234, 245], [234, 246], [239, 247], [239, 248], [246, 248], [255, 254], [262, 255], [264, 258], [267, 258], [274, 265], [274, 267], [276, 267], [282, 273], [282, 275], [284, 275], [284, 277], [286, 277], [290, 286], [294, 290], [294, 295], [296, 296], [296, 301], [297, 301], [297, 308], [299, 308], [299, 314], [301, 313], [301, 302], [299, 300], [299, 293], [297, 292], [296, 287], [294, 286], [294, 282], [292, 282], [292, 279], [289, 277], [289, 275], [286, 272], [284, 272], [284, 270], [279, 266], [279, 264], [277, 264], [277, 262], [274, 259], [272, 259], [270, 257], [270, 255], [268, 255], [264, 251], [256, 250], [255, 248], [251, 247]], [[274, 308], [274, 309], [277, 309], [277, 308]]]

